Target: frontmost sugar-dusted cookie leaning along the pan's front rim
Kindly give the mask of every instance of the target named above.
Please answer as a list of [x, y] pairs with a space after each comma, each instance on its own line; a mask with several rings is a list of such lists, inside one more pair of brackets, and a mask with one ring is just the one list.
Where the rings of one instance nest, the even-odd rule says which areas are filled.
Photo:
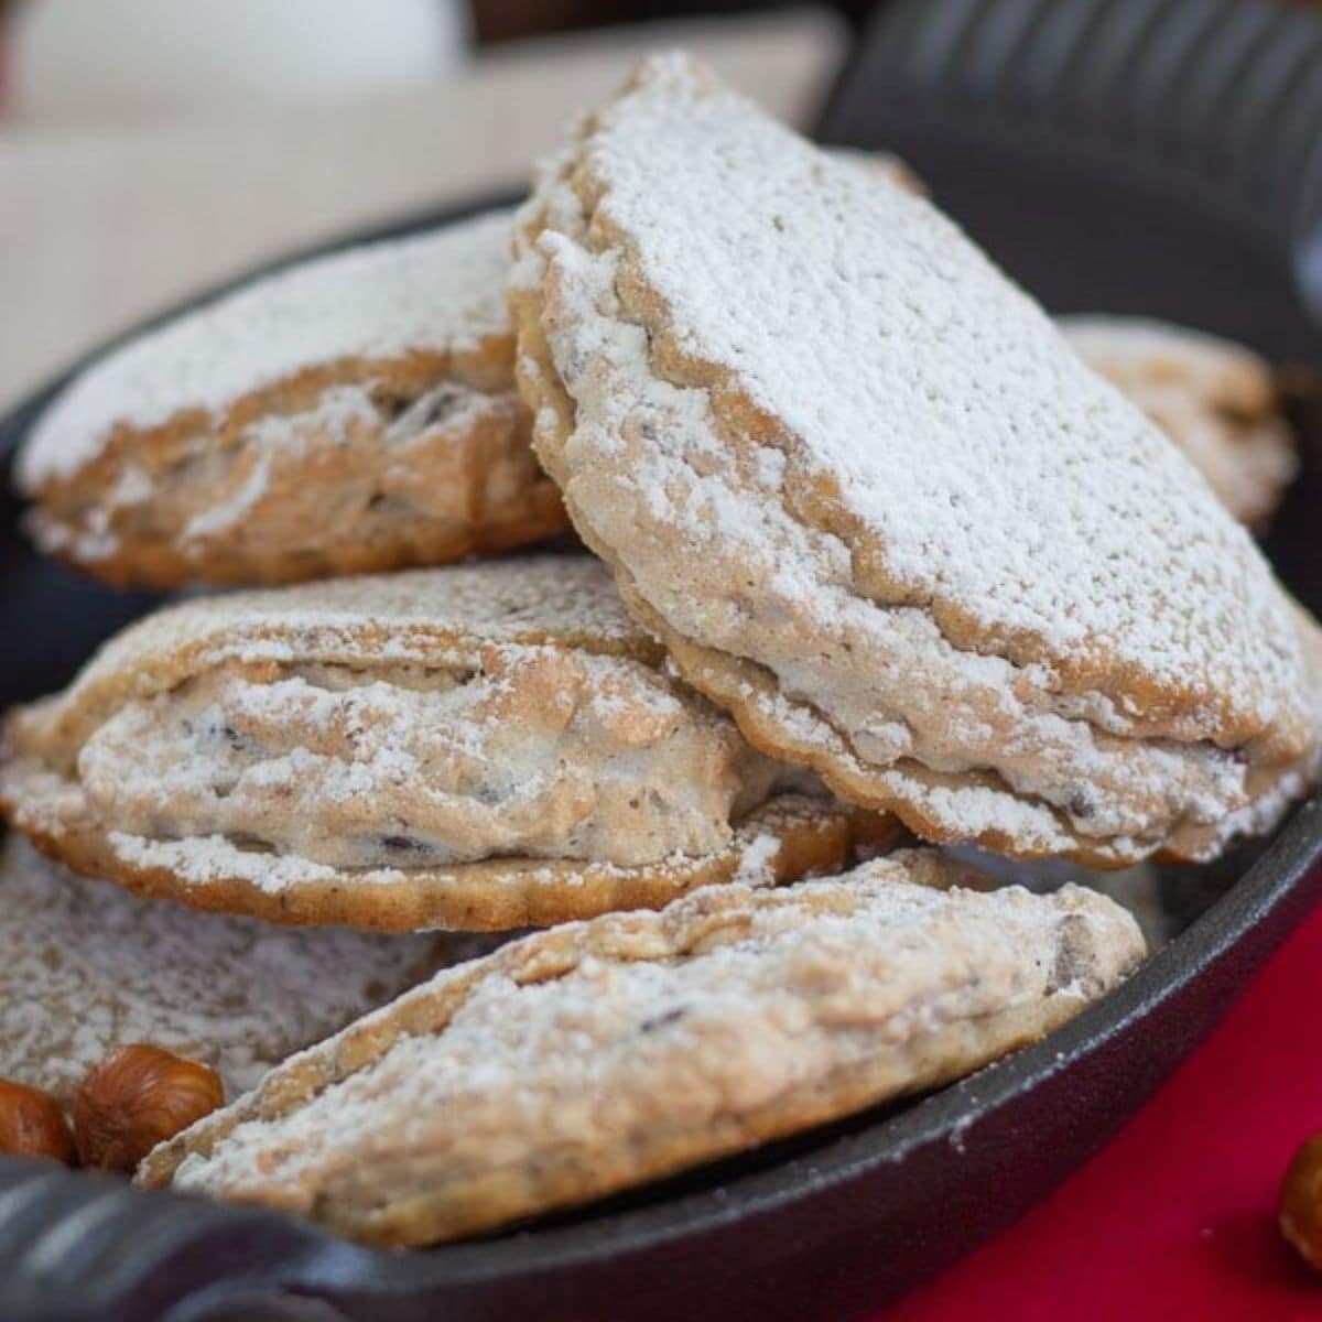
[[1091, 891], [937, 888], [958, 880], [899, 854], [514, 941], [295, 1056], [139, 1182], [455, 1239], [939, 1087], [1142, 958]]

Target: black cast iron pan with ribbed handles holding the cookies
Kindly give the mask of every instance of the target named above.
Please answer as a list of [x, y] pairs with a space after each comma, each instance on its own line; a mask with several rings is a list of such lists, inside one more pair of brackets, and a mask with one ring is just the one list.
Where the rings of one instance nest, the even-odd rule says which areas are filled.
[[[821, 127], [891, 147], [1052, 307], [1149, 312], [1322, 361], [1322, 24], [1229, 0], [899, 0]], [[416, 217], [407, 231], [460, 213]], [[365, 238], [369, 235], [356, 235]], [[0, 424], [12, 452], [49, 398]], [[1268, 549], [1322, 607], [1322, 419]], [[62, 683], [148, 598], [0, 530], [0, 701]], [[542, 1322], [855, 1317], [1021, 1215], [1215, 1023], [1322, 891], [1322, 801], [1216, 869], [1101, 1005], [916, 1104], [531, 1228], [410, 1256], [260, 1211], [0, 1162], [0, 1318]]]

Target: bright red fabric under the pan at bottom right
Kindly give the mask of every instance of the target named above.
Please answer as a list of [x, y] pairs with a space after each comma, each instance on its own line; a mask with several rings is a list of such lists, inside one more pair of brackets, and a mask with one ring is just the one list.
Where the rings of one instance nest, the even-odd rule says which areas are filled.
[[1319, 1322], [1276, 1229], [1322, 1130], [1322, 908], [1147, 1105], [1022, 1222], [874, 1322]]

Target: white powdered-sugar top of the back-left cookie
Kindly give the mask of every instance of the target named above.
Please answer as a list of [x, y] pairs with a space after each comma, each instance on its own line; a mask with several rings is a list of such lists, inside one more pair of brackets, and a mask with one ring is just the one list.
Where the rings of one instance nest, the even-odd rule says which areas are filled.
[[222, 410], [340, 358], [463, 352], [508, 334], [509, 214], [303, 263], [112, 350], [42, 418], [20, 457], [26, 486], [95, 457], [116, 424]]

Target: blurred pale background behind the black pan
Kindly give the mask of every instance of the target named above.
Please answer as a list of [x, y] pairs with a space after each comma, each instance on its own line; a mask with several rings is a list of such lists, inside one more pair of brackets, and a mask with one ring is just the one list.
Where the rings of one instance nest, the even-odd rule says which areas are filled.
[[810, 123], [871, 9], [0, 0], [0, 408], [208, 283], [517, 189], [572, 110], [657, 46]]

